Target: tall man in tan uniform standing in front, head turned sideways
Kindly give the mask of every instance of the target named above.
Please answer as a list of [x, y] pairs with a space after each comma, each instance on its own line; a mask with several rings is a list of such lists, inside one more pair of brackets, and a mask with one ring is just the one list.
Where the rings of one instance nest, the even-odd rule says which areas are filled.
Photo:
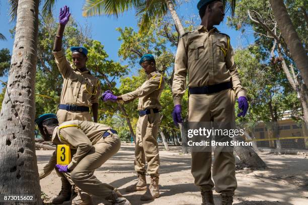
[[[191, 122], [223, 122], [235, 125], [235, 99], [245, 116], [248, 109], [246, 90], [242, 86], [234, 52], [227, 35], [219, 33], [213, 25], [223, 20], [224, 8], [221, 1], [201, 0], [198, 3], [201, 25], [197, 30], [181, 36], [175, 60], [172, 86], [175, 123], [182, 123], [181, 99], [189, 87], [189, 114]], [[216, 138], [215, 138], [216, 139]], [[215, 190], [221, 193], [222, 204], [233, 202], [237, 188], [233, 147], [218, 147], [214, 151], [212, 177]], [[202, 204], [213, 205], [211, 179], [211, 150], [192, 152], [191, 172], [195, 184], [201, 189]]]

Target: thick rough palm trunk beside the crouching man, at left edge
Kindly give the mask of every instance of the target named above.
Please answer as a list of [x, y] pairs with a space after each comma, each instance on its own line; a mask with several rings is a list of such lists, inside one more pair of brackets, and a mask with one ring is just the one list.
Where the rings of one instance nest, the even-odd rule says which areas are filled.
[[0, 194], [33, 194], [33, 204], [42, 204], [34, 140], [38, 8], [38, 0], [18, 2], [12, 64], [0, 114]]

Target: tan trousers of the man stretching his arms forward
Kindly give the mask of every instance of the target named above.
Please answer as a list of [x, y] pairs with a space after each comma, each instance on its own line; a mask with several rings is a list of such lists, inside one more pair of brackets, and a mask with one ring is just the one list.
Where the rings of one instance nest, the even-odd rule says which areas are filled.
[[139, 117], [136, 129], [135, 170], [145, 173], [145, 159], [147, 173], [159, 176], [160, 155], [157, 143], [160, 113], [151, 113]]

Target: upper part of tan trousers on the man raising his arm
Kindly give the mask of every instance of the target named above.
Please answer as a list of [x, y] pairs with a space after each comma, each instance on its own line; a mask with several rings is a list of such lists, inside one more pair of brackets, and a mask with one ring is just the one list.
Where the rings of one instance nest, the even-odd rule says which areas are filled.
[[93, 121], [92, 116], [89, 112], [70, 112], [66, 110], [61, 110], [59, 109], [57, 112], [57, 118], [59, 125], [61, 123], [64, 123], [66, 121], [71, 121], [71, 120], [80, 120], [80, 121]]

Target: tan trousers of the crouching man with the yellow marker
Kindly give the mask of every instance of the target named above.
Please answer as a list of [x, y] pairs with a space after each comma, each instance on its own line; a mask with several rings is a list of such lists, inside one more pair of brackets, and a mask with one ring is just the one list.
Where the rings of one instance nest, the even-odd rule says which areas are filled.
[[70, 173], [63, 173], [64, 176], [70, 184], [76, 184], [83, 191], [106, 198], [114, 187], [98, 180], [94, 171], [116, 154], [120, 146], [121, 141], [117, 134], [101, 138]]

